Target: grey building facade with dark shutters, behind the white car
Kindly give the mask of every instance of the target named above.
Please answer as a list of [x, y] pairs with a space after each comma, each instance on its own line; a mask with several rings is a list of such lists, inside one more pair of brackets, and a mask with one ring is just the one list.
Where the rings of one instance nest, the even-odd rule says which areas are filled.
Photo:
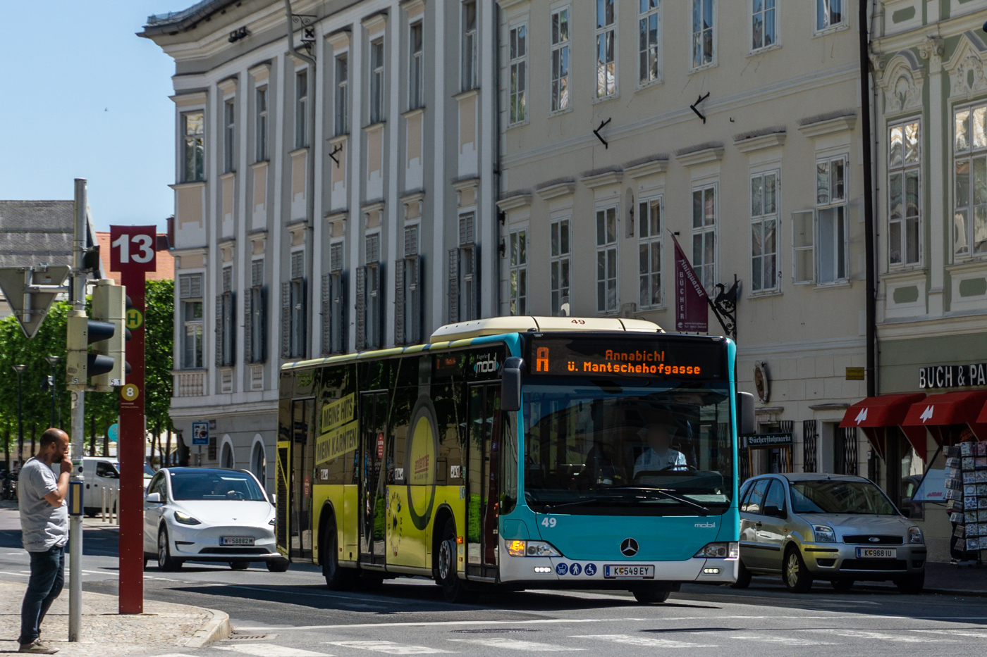
[[[176, 62], [172, 416], [273, 484], [279, 366], [493, 314], [492, 0], [206, 0]], [[200, 456], [199, 456], [200, 454]]]

